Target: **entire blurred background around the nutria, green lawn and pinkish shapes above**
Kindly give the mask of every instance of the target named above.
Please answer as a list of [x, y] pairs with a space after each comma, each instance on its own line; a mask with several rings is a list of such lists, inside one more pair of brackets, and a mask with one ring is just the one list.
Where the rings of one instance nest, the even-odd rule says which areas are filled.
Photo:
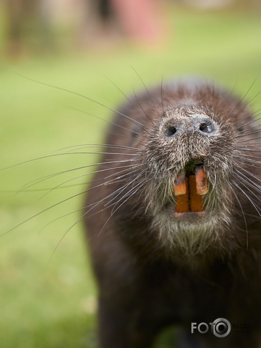
[[29, 218], [86, 189], [93, 167], [37, 179], [97, 162], [72, 146], [103, 142], [95, 116], [111, 116], [65, 90], [117, 108], [122, 92], [143, 88], [132, 67], [146, 86], [213, 78], [258, 110], [261, 2], [0, 0], [0, 167], [51, 155], [0, 171], [1, 348], [97, 348], [95, 283], [75, 224], [83, 195]]

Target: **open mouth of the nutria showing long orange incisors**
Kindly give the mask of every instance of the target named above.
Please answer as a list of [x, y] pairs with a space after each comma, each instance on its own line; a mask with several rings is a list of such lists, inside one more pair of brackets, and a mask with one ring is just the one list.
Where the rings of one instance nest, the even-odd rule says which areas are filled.
[[204, 211], [203, 196], [209, 191], [209, 183], [203, 164], [189, 163], [180, 170], [174, 181], [176, 212]]

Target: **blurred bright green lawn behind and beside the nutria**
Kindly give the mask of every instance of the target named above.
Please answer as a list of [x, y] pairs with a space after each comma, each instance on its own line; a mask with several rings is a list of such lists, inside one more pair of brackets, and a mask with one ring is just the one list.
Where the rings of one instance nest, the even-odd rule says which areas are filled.
[[[142, 89], [133, 66], [146, 85], [176, 75], [214, 78], [250, 100], [261, 91], [261, 21], [251, 13], [192, 12], [174, 7], [169, 14], [171, 34], [160, 50], [120, 46], [88, 54], [0, 60], [1, 168], [79, 144], [102, 142], [106, 123], [84, 112], [108, 118], [110, 111], [75, 94], [44, 86], [23, 76], [84, 94], [114, 108], [124, 93]], [[104, 77], [106, 76], [106, 77]], [[261, 97], [252, 102], [261, 107]], [[56, 151], [56, 152], [55, 152]], [[17, 191], [24, 184], [59, 171], [95, 163], [95, 155], [68, 154], [39, 159], [0, 171], [0, 189]], [[88, 169], [91, 171], [91, 169]], [[30, 190], [0, 193], [1, 233], [80, 193], [89, 179], [73, 187], [48, 191], [86, 169], [58, 175]], [[42, 197], [42, 198], [41, 198]], [[76, 224], [81, 212], [57, 220], [83, 206], [84, 197], [61, 204], [21, 224], [0, 239], [0, 347], [97, 347], [95, 283], [83, 237]], [[62, 238], [62, 239], [61, 239]], [[56, 248], [57, 247], [57, 248]], [[55, 249], [56, 248], [56, 249]], [[54, 254], [52, 255], [53, 251]], [[52, 257], [51, 257], [52, 256]], [[51, 257], [51, 259], [50, 259]], [[104, 260], [105, 262], [105, 260]], [[157, 348], [171, 347], [171, 337]]]

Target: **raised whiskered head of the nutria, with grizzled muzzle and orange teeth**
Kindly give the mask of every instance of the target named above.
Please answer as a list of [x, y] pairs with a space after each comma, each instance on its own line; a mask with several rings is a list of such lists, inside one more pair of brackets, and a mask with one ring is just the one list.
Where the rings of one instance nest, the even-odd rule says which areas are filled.
[[187, 259], [254, 245], [261, 143], [247, 104], [202, 83], [159, 87], [129, 102], [108, 138], [100, 176], [111, 174], [95, 203], [113, 228], [148, 253]]

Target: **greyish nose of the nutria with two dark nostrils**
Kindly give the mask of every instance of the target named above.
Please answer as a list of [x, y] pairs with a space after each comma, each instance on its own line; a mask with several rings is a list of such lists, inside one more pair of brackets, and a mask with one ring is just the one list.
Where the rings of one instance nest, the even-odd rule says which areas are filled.
[[168, 122], [165, 128], [165, 135], [173, 137], [178, 133], [197, 132], [202, 135], [211, 135], [216, 130], [215, 123], [208, 117], [195, 117], [190, 120], [180, 118]]

